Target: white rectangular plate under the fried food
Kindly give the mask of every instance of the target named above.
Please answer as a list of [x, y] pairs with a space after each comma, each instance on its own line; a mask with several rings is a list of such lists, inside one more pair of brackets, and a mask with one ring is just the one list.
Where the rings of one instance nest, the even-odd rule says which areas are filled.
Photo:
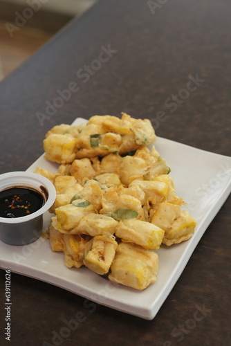
[[[86, 123], [77, 118], [73, 125]], [[231, 191], [231, 158], [205, 152], [172, 140], [160, 138], [155, 147], [165, 158], [176, 185], [176, 194], [188, 203], [185, 207], [196, 219], [194, 236], [187, 242], [157, 251], [160, 268], [157, 280], [144, 291], [114, 284], [87, 268], [67, 268], [63, 253], [53, 253], [48, 240], [39, 238], [25, 246], [0, 242], [0, 266], [15, 273], [54, 284], [112, 309], [151, 320], [185, 268], [207, 226], [214, 219]], [[58, 165], [40, 156], [28, 171], [41, 167], [52, 172]], [[44, 215], [48, 225], [50, 215]]]

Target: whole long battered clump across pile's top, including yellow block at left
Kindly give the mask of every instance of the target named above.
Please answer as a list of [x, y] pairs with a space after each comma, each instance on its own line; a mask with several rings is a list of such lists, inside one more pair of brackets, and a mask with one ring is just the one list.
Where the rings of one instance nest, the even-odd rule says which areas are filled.
[[121, 119], [93, 116], [82, 127], [57, 125], [46, 134], [44, 151], [47, 160], [65, 164], [72, 163], [75, 158], [124, 154], [150, 145], [154, 140], [156, 134], [150, 120], [122, 113]]

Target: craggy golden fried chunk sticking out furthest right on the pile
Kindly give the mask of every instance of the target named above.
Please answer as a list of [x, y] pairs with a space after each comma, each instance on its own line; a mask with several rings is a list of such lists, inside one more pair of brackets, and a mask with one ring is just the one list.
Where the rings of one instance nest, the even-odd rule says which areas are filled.
[[168, 202], [159, 204], [151, 224], [165, 230], [163, 244], [167, 246], [190, 239], [196, 227], [195, 219], [187, 210], [181, 210], [180, 206]]

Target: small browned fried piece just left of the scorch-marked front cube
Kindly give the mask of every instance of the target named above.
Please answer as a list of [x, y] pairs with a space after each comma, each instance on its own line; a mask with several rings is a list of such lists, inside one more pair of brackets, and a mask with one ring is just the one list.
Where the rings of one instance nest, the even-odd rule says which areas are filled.
[[80, 268], [84, 264], [84, 249], [88, 242], [80, 235], [63, 236], [66, 266]]

